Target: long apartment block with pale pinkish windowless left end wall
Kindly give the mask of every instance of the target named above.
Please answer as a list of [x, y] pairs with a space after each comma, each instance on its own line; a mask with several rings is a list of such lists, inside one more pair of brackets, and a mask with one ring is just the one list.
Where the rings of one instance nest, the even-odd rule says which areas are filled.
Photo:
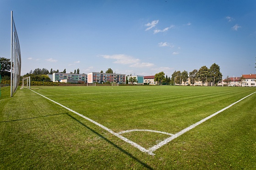
[[90, 72], [87, 74], [87, 82], [116, 82], [118, 84], [125, 84], [125, 74]]

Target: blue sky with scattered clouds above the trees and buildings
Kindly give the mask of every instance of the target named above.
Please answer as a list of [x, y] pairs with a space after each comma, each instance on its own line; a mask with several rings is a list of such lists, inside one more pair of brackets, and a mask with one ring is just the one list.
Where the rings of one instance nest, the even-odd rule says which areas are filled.
[[155, 75], [216, 63], [255, 73], [256, 0], [1, 0], [0, 57], [10, 58], [11, 10], [21, 75], [35, 68]]

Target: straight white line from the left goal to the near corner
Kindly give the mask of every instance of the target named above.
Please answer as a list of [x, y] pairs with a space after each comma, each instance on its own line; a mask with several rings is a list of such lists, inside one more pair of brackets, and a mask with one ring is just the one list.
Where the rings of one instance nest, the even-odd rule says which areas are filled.
[[[30, 89], [30, 90], [31, 90], [31, 89]], [[34, 93], [37, 93], [37, 92], [35, 92], [35, 91], [33, 91], [33, 90], [31, 90], [31, 91], [34, 92]], [[70, 108], [67, 108], [66, 106], [64, 106], [64, 105], [62, 105], [62, 104], [60, 104], [60, 103], [57, 103], [57, 102], [53, 101], [52, 99], [43, 96], [43, 95], [40, 94], [40, 93], [37, 93], [37, 94], [40, 95], [40, 96], [42, 96], [43, 98], [46, 98], [46, 99], [52, 101], [53, 103], [58, 104], [59, 106], [65, 108], [65, 109], [67, 109], [67, 110], [69, 110], [70, 112], [73, 112], [73, 113], [77, 114], [78, 116], [80, 116], [80, 117], [82, 117], [82, 118], [85, 118], [86, 120], [89, 120], [91, 123], [96, 124], [97, 126], [101, 127], [101, 128], [104, 129], [104, 130], [107, 130], [109, 133], [115, 135], [117, 138], [122, 139], [123, 141], [127, 142], [128, 144], [131, 144], [132, 146], [134, 146], [135, 148], [138, 148], [140, 151], [146, 152], [146, 153], [148, 153], [149, 155], [155, 155], [155, 154], [154, 154], [153, 152], [151, 152], [150, 150], [145, 149], [144, 147], [140, 146], [139, 144], [136, 144], [135, 142], [133, 142], [133, 141], [131, 141], [131, 140], [129, 140], [129, 139], [123, 137], [122, 135], [113, 132], [111, 129], [108, 129], [107, 127], [103, 126], [102, 124], [99, 124], [99, 123], [95, 122], [95, 121], [92, 120], [91, 118], [87, 118], [86, 116], [84, 116], [84, 115], [82, 115], [82, 114], [80, 114], [80, 113], [77, 113], [77, 112], [75, 112], [74, 110], [72, 110], [72, 109], [70, 109]]]

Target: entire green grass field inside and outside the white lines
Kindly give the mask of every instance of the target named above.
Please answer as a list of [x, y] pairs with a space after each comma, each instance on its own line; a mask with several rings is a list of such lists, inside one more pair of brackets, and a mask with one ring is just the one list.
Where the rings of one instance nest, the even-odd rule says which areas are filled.
[[[32, 87], [114, 133], [176, 134], [256, 88]], [[1, 88], [0, 169], [256, 169], [256, 93], [153, 151], [29, 89]], [[168, 134], [121, 134], [149, 149]]]

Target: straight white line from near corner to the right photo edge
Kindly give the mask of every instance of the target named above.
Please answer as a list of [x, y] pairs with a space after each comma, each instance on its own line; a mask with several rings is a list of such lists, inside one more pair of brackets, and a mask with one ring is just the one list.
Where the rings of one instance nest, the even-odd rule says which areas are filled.
[[[254, 93], [256, 93], [256, 92], [254, 92]], [[254, 93], [249, 94], [248, 96], [246, 96], [246, 97], [244, 97], [244, 98], [242, 98], [242, 99], [236, 101], [235, 103], [230, 104], [229, 106], [227, 106], [227, 107], [225, 107], [225, 108], [219, 110], [219, 111], [216, 112], [216, 113], [213, 113], [212, 115], [210, 115], [210, 116], [208, 116], [208, 117], [206, 117], [206, 118], [200, 120], [199, 122], [190, 125], [189, 127], [185, 128], [185, 129], [183, 129], [183, 130], [181, 130], [180, 132], [178, 132], [178, 133], [172, 135], [171, 137], [166, 138], [165, 140], [161, 141], [160, 143], [156, 144], [155, 146], [149, 148], [149, 151], [151, 151], [151, 152], [153, 153], [156, 149], [159, 149], [159, 148], [162, 147], [163, 145], [165, 145], [165, 144], [171, 142], [171, 140], [176, 139], [176, 138], [179, 137], [181, 134], [184, 134], [184, 133], [186, 133], [187, 131], [189, 131], [189, 130], [195, 128], [197, 125], [202, 124], [203, 122], [205, 122], [205, 121], [208, 120], [209, 118], [212, 118], [213, 116], [215, 116], [215, 115], [217, 115], [217, 114], [223, 112], [224, 110], [230, 108], [230, 107], [233, 106], [234, 104], [236, 104], [236, 103], [240, 102], [241, 100], [243, 100], [243, 99], [245, 99], [245, 98], [251, 96], [251, 95], [254, 94]]]

